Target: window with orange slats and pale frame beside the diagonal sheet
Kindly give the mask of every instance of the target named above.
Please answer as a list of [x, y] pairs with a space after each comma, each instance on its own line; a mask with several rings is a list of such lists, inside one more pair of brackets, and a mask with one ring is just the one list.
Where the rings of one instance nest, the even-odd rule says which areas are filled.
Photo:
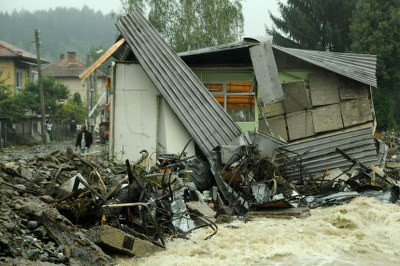
[[252, 90], [252, 82], [204, 85], [235, 122], [255, 121], [255, 93]]

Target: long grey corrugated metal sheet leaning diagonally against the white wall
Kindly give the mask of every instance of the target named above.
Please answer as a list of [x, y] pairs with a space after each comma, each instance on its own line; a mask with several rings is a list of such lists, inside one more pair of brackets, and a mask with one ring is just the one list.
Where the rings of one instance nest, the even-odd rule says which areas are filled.
[[117, 22], [144, 71], [205, 155], [241, 134], [202, 82], [138, 12]]

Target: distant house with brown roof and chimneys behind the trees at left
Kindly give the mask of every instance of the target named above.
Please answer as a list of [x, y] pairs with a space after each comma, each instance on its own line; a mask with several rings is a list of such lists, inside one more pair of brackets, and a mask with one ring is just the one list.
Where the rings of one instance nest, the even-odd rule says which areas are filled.
[[[79, 92], [82, 101], [86, 102], [87, 83], [81, 83], [79, 75], [87, 68], [86, 63], [76, 56], [76, 52], [68, 52], [67, 57], [60, 54], [60, 59], [43, 69], [43, 76], [53, 77], [62, 84], [66, 85], [70, 91], [70, 96]], [[106, 74], [97, 71], [97, 92], [104, 91]]]

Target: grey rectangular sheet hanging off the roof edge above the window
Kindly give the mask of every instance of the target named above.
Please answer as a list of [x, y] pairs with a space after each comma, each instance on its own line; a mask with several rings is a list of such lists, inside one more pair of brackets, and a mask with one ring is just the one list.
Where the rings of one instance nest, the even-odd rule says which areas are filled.
[[266, 42], [250, 48], [250, 56], [257, 79], [258, 96], [263, 104], [281, 101], [284, 95], [271, 44]]

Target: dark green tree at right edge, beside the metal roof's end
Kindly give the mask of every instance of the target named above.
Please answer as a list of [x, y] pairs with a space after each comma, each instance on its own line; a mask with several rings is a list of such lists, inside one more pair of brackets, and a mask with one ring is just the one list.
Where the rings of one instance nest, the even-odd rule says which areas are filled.
[[[400, 106], [400, 1], [360, 1], [351, 24], [351, 49], [378, 56], [374, 103], [381, 129], [396, 128]], [[397, 123], [396, 123], [397, 119]]]

